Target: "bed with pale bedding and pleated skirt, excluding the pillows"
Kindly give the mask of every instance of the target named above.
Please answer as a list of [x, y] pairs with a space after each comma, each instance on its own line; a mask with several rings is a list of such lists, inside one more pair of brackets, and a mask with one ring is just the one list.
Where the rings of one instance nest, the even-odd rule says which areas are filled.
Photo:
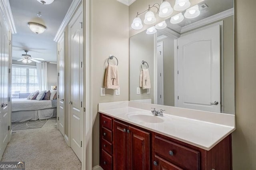
[[12, 99], [12, 123], [57, 116], [57, 100]]

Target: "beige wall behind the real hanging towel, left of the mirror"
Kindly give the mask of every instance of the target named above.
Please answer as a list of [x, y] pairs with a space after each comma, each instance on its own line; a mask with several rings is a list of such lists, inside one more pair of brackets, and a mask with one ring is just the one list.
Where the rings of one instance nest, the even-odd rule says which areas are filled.
[[[116, 0], [92, 0], [92, 111], [93, 162], [99, 164], [98, 103], [125, 101], [129, 99], [129, 25], [128, 6]], [[108, 55], [118, 58], [120, 95], [106, 89], [106, 96], [100, 96]]]

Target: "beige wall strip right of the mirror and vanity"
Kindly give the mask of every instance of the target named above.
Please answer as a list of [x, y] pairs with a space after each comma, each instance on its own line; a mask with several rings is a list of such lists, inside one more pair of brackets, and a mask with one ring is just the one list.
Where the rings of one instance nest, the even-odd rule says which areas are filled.
[[235, 0], [236, 130], [232, 134], [233, 170], [256, 169], [255, 6], [255, 0]]

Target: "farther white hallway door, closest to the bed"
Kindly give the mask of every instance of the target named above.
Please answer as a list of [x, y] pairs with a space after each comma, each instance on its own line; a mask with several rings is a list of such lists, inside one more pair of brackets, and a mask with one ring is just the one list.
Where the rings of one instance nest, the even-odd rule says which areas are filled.
[[64, 34], [58, 42], [58, 128], [64, 136]]

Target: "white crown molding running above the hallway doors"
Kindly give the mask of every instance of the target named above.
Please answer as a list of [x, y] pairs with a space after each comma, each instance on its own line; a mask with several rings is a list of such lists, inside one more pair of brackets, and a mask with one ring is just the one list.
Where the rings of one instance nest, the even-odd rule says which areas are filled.
[[53, 39], [55, 42], [58, 42], [58, 40], [60, 40], [62, 33], [64, 32], [66, 26], [70, 22], [73, 14], [75, 13], [77, 7], [80, 5], [81, 1], [82, 0], [73, 0], [72, 3], [70, 4], [70, 7], [68, 8], [68, 12], [66, 13], [66, 16], [64, 17], [64, 19], [60, 25], [60, 28]]

